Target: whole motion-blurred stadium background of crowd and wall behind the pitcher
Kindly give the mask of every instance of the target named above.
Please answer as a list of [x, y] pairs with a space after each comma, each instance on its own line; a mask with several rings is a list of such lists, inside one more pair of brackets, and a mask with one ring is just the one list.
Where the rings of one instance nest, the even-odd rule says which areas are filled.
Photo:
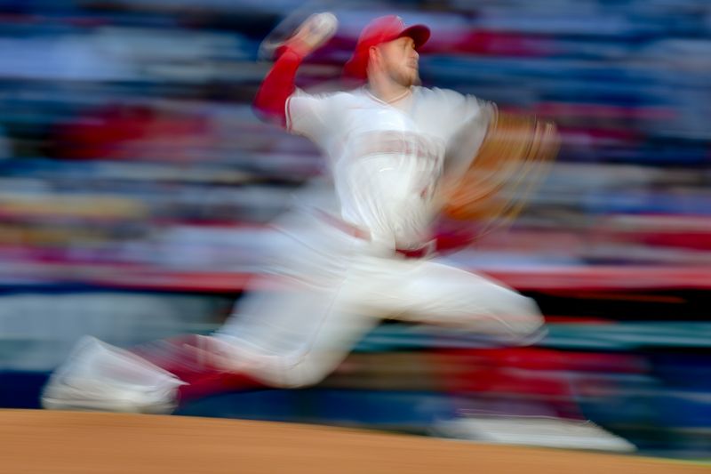
[[711, 457], [707, 0], [0, 0], [0, 406], [38, 406], [84, 333], [130, 346], [220, 325], [266, 223], [321, 173], [308, 141], [252, 114], [260, 42], [323, 10], [340, 31], [303, 86], [397, 12], [433, 29], [424, 84], [559, 125], [515, 226], [447, 257], [534, 297], [550, 331], [500, 348], [384, 324], [315, 388], [180, 413], [415, 433], [582, 417], [646, 454]]

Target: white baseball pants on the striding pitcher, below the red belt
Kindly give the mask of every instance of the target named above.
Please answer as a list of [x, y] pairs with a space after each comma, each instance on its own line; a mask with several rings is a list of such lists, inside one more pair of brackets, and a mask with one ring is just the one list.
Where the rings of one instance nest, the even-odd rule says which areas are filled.
[[490, 279], [352, 237], [308, 212], [290, 214], [268, 278], [214, 336], [230, 366], [276, 387], [320, 382], [382, 318], [525, 336], [535, 302]]

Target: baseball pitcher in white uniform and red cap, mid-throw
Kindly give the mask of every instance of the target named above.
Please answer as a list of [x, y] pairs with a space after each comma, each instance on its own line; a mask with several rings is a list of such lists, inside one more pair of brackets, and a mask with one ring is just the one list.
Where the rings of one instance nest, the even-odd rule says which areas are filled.
[[[363, 29], [344, 69], [356, 88], [301, 91], [301, 61], [336, 27], [330, 13], [310, 17], [277, 52], [254, 102], [264, 120], [314, 141], [331, 171], [327, 186], [305, 190], [276, 222], [267, 275], [276, 289], [247, 294], [212, 336], [170, 345], [202, 360], [203, 372], [243, 374], [245, 386], [319, 382], [384, 317], [513, 339], [543, 324], [531, 299], [435, 261], [433, 229], [443, 218], [510, 220], [528, 178], [555, 156], [553, 126], [420, 86], [418, 51], [430, 31], [395, 16]], [[84, 339], [52, 375], [44, 406], [169, 411], [201, 380], [200, 369], [175, 367], [180, 357]]]

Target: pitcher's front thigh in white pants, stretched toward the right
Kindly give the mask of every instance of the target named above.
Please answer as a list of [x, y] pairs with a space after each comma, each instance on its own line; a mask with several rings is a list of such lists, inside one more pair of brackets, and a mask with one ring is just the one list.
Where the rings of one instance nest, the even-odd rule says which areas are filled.
[[410, 301], [403, 319], [515, 336], [533, 333], [543, 324], [531, 298], [489, 278], [435, 261], [421, 262], [398, 293]]

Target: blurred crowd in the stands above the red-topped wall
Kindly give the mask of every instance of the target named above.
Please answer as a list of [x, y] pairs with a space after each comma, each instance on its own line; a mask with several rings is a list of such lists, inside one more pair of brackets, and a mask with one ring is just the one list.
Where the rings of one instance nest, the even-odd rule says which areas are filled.
[[[250, 108], [268, 68], [261, 40], [284, 18], [303, 18], [303, 5], [3, 4], [0, 212], [3, 258], [14, 264], [3, 279], [58, 277], [47, 260], [84, 280], [119, 263], [249, 271], [253, 232], [321, 169], [308, 142], [261, 125]], [[341, 20], [303, 68], [302, 85], [317, 86], [339, 77], [379, 9], [307, 6]], [[711, 261], [705, 2], [390, 8], [433, 28], [425, 84], [550, 118], [563, 133], [559, 163], [515, 231], [459, 258]]]

